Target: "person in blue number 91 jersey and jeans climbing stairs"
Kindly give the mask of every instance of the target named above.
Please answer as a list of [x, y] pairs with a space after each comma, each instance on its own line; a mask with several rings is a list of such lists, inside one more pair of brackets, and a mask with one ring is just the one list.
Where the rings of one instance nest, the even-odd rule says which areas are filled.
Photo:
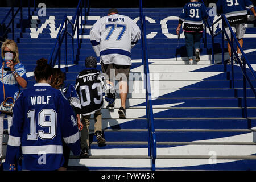
[[191, 0], [187, 3], [180, 15], [177, 26], [177, 35], [180, 34], [180, 27], [184, 22], [184, 35], [188, 54], [189, 64], [193, 64], [193, 55], [195, 52], [195, 61], [200, 61], [200, 44], [203, 34], [203, 20], [207, 19], [207, 11], [202, 3], [197, 0]]

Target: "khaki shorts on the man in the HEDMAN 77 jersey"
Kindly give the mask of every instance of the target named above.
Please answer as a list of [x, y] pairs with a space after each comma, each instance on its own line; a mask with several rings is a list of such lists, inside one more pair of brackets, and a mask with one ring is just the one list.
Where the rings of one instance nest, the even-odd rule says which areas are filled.
[[130, 65], [103, 64], [101, 63], [102, 73], [108, 75], [108, 80], [127, 81], [130, 73]]

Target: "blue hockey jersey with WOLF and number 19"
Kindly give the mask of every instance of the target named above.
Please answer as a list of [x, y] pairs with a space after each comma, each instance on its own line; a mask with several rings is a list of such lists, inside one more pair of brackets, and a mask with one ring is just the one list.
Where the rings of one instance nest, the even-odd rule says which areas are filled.
[[64, 162], [62, 139], [74, 155], [80, 140], [72, 107], [60, 90], [35, 84], [15, 102], [6, 163], [15, 163], [20, 146], [28, 170], [56, 170]]

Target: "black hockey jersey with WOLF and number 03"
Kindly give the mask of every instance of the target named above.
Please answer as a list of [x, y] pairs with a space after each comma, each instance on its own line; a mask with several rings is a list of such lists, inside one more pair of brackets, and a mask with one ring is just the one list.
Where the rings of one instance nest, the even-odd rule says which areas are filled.
[[79, 94], [82, 115], [94, 114], [103, 105], [100, 71], [84, 69], [76, 78], [76, 92]]

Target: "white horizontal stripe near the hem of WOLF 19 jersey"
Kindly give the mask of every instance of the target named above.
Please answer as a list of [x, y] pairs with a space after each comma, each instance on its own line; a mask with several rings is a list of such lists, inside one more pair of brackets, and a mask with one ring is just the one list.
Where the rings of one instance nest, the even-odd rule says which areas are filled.
[[63, 154], [63, 146], [45, 145], [45, 146], [22, 146], [23, 154], [40, 154], [44, 151], [45, 154]]

